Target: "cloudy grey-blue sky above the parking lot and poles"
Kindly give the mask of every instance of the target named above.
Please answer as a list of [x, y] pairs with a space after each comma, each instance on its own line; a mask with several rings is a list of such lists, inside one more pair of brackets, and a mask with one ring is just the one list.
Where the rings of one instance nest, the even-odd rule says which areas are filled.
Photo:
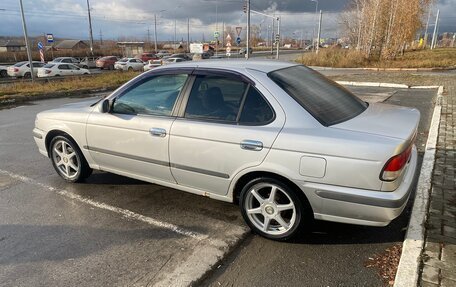
[[[340, 36], [338, 13], [350, 0], [319, 0], [323, 11], [322, 37]], [[88, 39], [86, 0], [23, 0], [27, 26], [31, 36], [52, 33], [55, 37]], [[456, 32], [456, 0], [438, 0], [433, 7], [431, 23], [440, 9], [440, 32]], [[209, 40], [218, 26], [244, 26], [242, 0], [90, 0], [93, 35], [104, 39], [146, 40], [154, 33], [154, 14], [157, 15], [157, 34], [160, 41], [173, 40], [176, 21], [177, 39], [186, 39], [187, 19], [190, 19], [190, 37]], [[251, 0], [254, 10], [281, 16], [281, 34], [310, 38], [316, 26], [315, 5], [311, 0]], [[0, 36], [20, 36], [22, 26], [19, 1], [0, 1]], [[266, 35], [271, 20], [252, 15], [252, 24], [261, 25]], [[429, 31], [432, 32], [431, 25]], [[245, 29], [243, 30], [243, 32]], [[293, 34], [294, 33], [294, 34]]]

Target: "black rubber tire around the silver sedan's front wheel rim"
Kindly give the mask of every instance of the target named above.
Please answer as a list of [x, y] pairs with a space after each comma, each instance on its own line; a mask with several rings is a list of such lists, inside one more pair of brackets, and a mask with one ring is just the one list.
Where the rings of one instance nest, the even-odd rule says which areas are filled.
[[[58, 149], [58, 145], [61, 144], [62, 142], [65, 142], [69, 147], [71, 147], [72, 152], [75, 153], [75, 155], [67, 159], [73, 160], [73, 164], [77, 163], [79, 166], [79, 169], [77, 172], [74, 173], [74, 175], [71, 175], [71, 177], [67, 176], [60, 167], [57, 166], [56, 159], [58, 158], [59, 155], [55, 151], [56, 148]], [[89, 164], [87, 163], [84, 155], [82, 154], [81, 150], [79, 149], [78, 145], [67, 135], [59, 135], [54, 137], [51, 142], [49, 143], [49, 156], [52, 162], [52, 166], [54, 167], [55, 171], [57, 172], [58, 175], [60, 175], [61, 178], [68, 182], [80, 182], [84, 180], [85, 178], [89, 177], [92, 174], [92, 169], [89, 167]], [[62, 159], [62, 158], [61, 158]]]

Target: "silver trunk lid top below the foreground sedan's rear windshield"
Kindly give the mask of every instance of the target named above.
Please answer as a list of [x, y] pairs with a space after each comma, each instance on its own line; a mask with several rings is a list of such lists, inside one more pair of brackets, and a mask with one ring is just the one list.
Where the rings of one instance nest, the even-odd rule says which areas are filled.
[[360, 115], [331, 128], [410, 140], [419, 121], [420, 112], [417, 109], [373, 103]]

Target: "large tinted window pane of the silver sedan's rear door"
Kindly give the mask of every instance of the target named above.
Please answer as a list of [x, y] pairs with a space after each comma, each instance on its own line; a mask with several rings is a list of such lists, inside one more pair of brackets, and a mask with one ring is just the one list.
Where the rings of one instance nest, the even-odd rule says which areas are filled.
[[197, 76], [185, 117], [236, 122], [247, 86], [247, 83], [226, 77]]

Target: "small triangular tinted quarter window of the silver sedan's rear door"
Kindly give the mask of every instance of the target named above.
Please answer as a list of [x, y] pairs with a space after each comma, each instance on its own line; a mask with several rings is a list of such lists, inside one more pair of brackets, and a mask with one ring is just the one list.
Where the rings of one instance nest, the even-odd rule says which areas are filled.
[[266, 124], [272, 121], [274, 112], [263, 96], [253, 87], [249, 88], [247, 97], [239, 118], [240, 124]]

